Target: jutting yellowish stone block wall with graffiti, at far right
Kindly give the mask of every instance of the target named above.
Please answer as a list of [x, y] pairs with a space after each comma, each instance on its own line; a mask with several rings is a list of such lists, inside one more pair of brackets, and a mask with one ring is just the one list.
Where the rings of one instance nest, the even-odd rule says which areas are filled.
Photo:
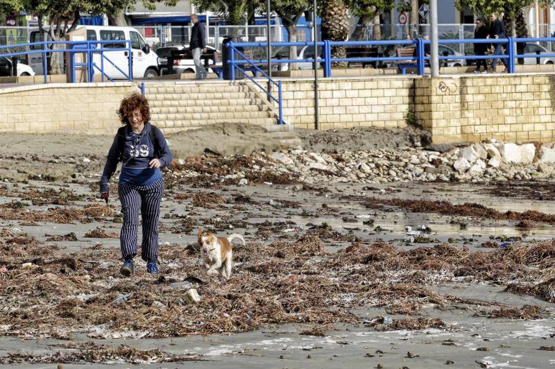
[[434, 142], [553, 141], [555, 76], [420, 78], [416, 119]]

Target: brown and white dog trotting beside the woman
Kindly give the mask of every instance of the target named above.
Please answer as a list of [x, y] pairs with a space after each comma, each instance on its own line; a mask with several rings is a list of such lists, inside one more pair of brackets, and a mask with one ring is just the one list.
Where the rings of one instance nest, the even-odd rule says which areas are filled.
[[226, 280], [230, 279], [233, 259], [231, 241], [236, 238], [243, 241], [243, 246], [245, 246], [245, 239], [241, 234], [234, 233], [225, 238], [216, 237], [212, 233], [203, 233], [203, 230], [198, 230], [200, 257], [209, 275], [219, 273]]

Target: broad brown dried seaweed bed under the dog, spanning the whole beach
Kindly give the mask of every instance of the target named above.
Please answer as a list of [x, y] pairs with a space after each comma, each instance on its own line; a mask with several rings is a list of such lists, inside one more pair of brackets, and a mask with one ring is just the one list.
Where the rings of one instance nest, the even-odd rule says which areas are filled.
[[[554, 250], [552, 243], [543, 243], [493, 252], [447, 245], [407, 251], [377, 242], [330, 254], [320, 238], [305, 235], [294, 243], [236, 246], [234, 274], [222, 282], [206, 275], [193, 247], [160, 248], [158, 279], [147, 275], [139, 258], [136, 274], [123, 278], [119, 250], [98, 244], [63, 255], [32, 237], [9, 231], [2, 237], [0, 251], [8, 256], [0, 261], [6, 268], [0, 276], [6, 307], [1, 333], [33, 338], [71, 338], [78, 332], [93, 338], [162, 338], [246, 332], [270, 324], [357, 323], [355, 307], [416, 315], [400, 321], [403, 327], [445, 327], [418, 316], [424, 304], [451, 309], [455, 303], [477, 302], [440, 295], [422, 284], [461, 278], [537, 284], [552, 273]], [[170, 286], [182, 281], [197, 286], [199, 304], [188, 304], [185, 290]], [[128, 301], [115, 304], [123, 295]]]

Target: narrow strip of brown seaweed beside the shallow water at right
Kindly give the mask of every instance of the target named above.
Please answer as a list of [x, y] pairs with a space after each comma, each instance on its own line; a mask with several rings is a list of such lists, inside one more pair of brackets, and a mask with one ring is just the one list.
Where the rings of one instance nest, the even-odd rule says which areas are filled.
[[398, 207], [415, 213], [434, 213], [450, 216], [470, 216], [504, 221], [542, 222], [550, 225], [555, 225], [555, 215], [553, 214], [545, 214], [533, 210], [521, 213], [511, 211], [502, 213], [476, 203], [453, 205], [448, 201], [403, 200], [399, 198], [384, 200], [380, 198], [368, 198], [366, 200], [366, 207], [370, 207], [372, 209]]

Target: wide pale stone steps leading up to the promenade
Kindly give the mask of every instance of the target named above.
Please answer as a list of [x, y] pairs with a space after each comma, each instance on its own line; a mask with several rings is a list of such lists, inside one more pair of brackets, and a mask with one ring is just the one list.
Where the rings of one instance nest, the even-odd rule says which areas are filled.
[[278, 126], [275, 111], [245, 84], [148, 83], [145, 87], [151, 121], [167, 132], [216, 123]]

